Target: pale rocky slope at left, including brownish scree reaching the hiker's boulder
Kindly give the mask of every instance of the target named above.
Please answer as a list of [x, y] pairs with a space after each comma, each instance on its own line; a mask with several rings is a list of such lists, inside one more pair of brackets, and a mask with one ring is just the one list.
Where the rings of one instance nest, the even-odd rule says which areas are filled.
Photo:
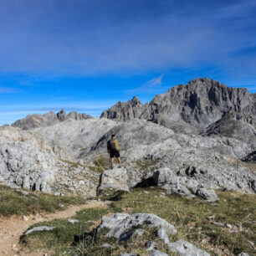
[[[69, 193], [94, 196], [99, 174], [85, 166], [59, 161], [70, 155], [67, 147], [54, 145], [47, 136], [12, 126], [0, 127], [0, 182], [9, 187], [58, 195], [68, 187]], [[80, 182], [81, 177], [86, 178]]]

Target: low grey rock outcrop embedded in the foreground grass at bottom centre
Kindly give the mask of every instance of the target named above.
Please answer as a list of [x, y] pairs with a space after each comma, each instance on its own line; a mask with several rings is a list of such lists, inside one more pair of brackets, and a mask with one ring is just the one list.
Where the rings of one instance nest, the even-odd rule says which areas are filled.
[[[124, 240], [127, 242], [130, 238], [135, 238], [138, 234], [143, 233], [143, 229], [137, 229], [141, 227], [141, 225], [148, 225], [150, 228], [159, 228], [157, 231], [158, 238], [160, 238], [172, 252], [178, 255], [209, 256], [207, 252], [195, 247], [192, 243], [188, 243], [187, 241], [178, 240], [176, 243], [170, 243], [169, 235], [177, 234], [176, 228], [170, 223], [167, 223], [166, 220], [152, 213], [135, 213], [132, 215], [115, 213], [110, 216], [103, 216], [101, 224], [97, 228], [97, 232], [100, 233], [101, 229], [108, 228], [109, 232], [105, 235], [107, 238], [116, 238], [118, 243]], [[156, 243], [151, 241], [146, 244], [146, 248], [144, 249], [152, 250], [155, 246]], [[167, 254], [154, 250], [150, 255]]]

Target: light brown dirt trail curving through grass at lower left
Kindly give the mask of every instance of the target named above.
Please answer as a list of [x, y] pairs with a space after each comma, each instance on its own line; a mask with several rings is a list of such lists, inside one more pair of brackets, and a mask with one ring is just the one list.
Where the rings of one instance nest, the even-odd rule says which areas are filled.
[[38, 220], [33, 220], [33, 216], [28, 216], [27, 221], [23, 220], [23, 217], [0, 218], [0, 255], [44, 255], [44, 252], [18, 253], [18, 249], [21, 248], [18, 243], [20, 236], [34, 223], [50, 221], [54, 218], [69, 218], [76, 212], [92, 207], [107, 207], [107, 203], [91, 200], [84, 205], [71, 206], [64, 211], [43, 214]]

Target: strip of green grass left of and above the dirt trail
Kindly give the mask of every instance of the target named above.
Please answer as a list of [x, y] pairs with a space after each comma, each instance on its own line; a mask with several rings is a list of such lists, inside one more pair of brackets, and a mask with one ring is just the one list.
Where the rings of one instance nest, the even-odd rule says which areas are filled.
[[54, 197], [42, 192], [29, 192], [28, 196], [23, 196], [16, 189], [0, 185], [0, 216], [55, 212], [84, 202], [80, 197]]

